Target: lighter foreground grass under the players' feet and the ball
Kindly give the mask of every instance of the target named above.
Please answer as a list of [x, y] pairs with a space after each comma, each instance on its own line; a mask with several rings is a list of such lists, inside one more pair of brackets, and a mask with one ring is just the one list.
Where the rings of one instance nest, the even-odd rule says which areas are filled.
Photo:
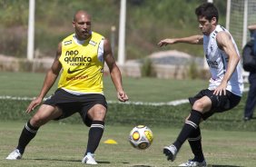
[[[44, 125], [31, 142], [20, 161], [7, 161], [5, 157], [17, 143], [25, 123], [1, 122], [0, 166], [84, 166], [81, 163], [87, 143], [88, 128], [83, 124], [51, 122]], [[133, 126], [106, 125], [103, 139], [96, 153], [98, 166], [158, 167], [177, 166], [192, 158], [188, 142], [182, 146], [174, 162], [167, 162], [162, 147], [175, 140], [180, 129], [150, 127], [152, 146], [139, 151], [128, 142]], [[118, 144], [105, 144], [113, 139]], [[202, 130], [203, 150], [211, 167], [254, 166], [256, 163], [256, 133]]]

